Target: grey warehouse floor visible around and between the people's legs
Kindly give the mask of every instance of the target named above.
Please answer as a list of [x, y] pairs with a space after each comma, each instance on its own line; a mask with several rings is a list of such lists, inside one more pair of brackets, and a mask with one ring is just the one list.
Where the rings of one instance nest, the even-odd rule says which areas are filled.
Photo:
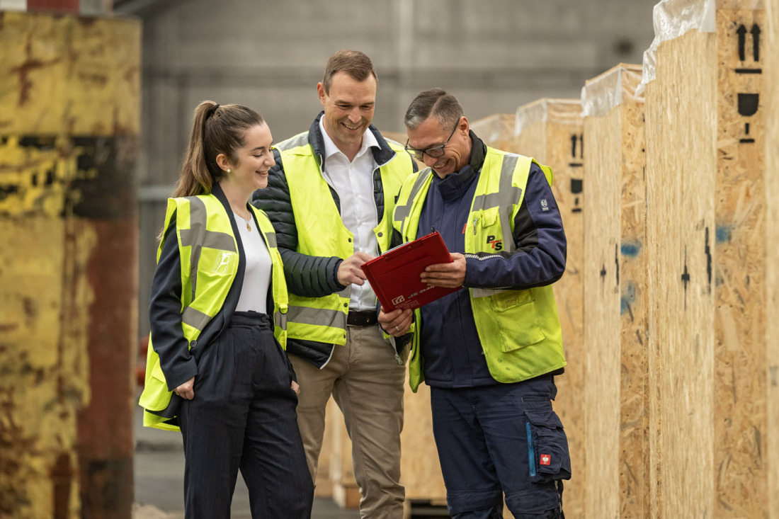
[[[167, 517], [184, 517], [184, 454], [180, 433], [143, 427], [136, 412], [135, 492], [138, 505], [150, 505]], [[232, 507], [233, 519], [250, 519], [249, 493], [238, 476]], [[314, 500], [312, 519], [357, 519], [358, 510], [343, 510], [327, 498]], [[136, 517], [136, 519], [142, 519]]]

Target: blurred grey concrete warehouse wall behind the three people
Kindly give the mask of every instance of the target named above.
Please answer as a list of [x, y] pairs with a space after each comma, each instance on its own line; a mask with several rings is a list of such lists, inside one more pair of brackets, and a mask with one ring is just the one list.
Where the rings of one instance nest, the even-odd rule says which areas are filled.
[[153, 200], [171, 190], [199, 101], [255, 108], [278, 142], [320, 110], [327, 58], [355, 48], [379, 76], [379, 129], [404, 131], [407, 105], [431, 87], [455, 94], [472, 121], [513, 113], [541, 97], [578, 98], [585, 79], [640, 63], [656, 1], [117, 2], [144, 27], [139, 333], [164, 216]]

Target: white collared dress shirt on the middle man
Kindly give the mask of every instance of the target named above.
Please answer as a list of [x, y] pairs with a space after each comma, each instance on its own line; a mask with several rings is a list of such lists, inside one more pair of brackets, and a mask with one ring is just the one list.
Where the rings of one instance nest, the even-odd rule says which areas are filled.
[[[371, 147], [379, 147], [373, 133], [368, 130], [362, 136], [362, 146], [349, 161], [327, 135], [319, 119], [319, 130], [325, 143], [325, 180], [335, 189], [340, 199], [341, 221], [344, 227], [354, 235], [354, 252], [366, 252], [371, 256], [379, 254], [379, 242], [373, 229], [379, 224], [376, 218], [376, 203], [373, 199], [373, 170], [376, 168]], [[376, 307], [376, 295], [368, 281], [359, 286], [351, 285], [353, 310], [373, 310]]]

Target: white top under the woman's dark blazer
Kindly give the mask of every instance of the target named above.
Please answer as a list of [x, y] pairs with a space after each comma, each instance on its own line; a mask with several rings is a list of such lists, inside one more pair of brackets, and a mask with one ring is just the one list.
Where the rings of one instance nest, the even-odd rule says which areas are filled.
[[244, 254], [246, 256], [246, 269], [244, 271], [244, 282], [241, 286], [241, 297], [238, 298], [236, 311], [249, 312], [268, 312], [268, 289], [270, 288], [270, 274], [273, 269], [273, 263], [270, 261], [270, 252], [265, 245], [263, 237], [259, 234], [259, 229], [254, 218], [249, 220], [249, 227], [246, 228], [246, 221], [233, 213], [236, 223], [238, 223], [238, 232], [243, 242]]

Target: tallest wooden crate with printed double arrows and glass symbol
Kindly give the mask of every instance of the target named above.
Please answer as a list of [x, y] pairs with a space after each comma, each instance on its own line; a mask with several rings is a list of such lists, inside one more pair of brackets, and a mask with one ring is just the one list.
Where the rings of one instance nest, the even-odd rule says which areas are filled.
[[662, 41], [647, 84], [653, 517], [766, 517], [776, 492], [763, 453], [777, 425], [756, 376], [768, 364], [764, 23], [747, 3], [761, 2], [719, 2], [714, 32]]

